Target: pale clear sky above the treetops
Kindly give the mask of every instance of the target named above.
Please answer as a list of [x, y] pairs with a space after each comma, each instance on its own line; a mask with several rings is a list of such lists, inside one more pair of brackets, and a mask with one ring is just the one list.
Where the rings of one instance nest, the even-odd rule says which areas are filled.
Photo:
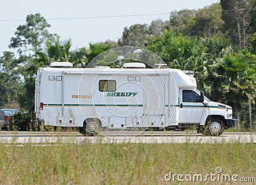
[[[72, 49], [88, 47], [89, 43], [117, 41], [124, 27], [150, 24], [152, 20], [168, 20], [171, 11], [198, 9], [219, 3], [218, 0], [8, 0], [0, 6], [0, 56], [10, 50], [8, 45], [26, 16], [40, 13], [60, 41], [71, 40]], [[164, 15], [160, 15], [164, 14]], [[125, 15], [129, 15], [125, 17]], [[147, 15], [147, 16], [131, 16]], [[56, 19], [55, 19], [56, 18]], [[60, 19], [59, 19], [60, 18]], [[11, 50], [12, 51], [12, 50]]]

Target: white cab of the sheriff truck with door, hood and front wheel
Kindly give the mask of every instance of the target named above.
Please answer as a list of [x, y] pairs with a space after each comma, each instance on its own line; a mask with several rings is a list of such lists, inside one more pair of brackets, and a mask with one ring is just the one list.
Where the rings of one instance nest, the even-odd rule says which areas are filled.
[[180, 89], [180, 124], [199, 122], [198, 132], [219, 136], [224, 129], [235, 125], [232, 107], [209, 100], [198, 89]]

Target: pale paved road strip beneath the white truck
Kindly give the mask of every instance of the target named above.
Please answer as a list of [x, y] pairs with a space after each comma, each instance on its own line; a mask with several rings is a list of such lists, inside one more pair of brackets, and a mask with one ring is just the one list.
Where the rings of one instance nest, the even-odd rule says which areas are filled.
[[181, 131], [109, 131], [94, 137], [84, 137], [76, 132], [8, 132], [0, 131], [2, 144], [94, 144], [94, 143], [253, 143], [256, 133], [223, 133], [220, 137], [205, 137], [196, 132]]

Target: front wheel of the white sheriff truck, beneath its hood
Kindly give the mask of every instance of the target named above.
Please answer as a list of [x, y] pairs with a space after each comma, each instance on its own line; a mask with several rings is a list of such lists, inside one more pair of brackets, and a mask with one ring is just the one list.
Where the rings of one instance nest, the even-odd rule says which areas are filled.
[[213, 118], [211, 121], [205, 122], [205, 125], [200, 128], [200, 133], [205, 136], [220, 136], [223, 131], [223, 120], [219, 118]]

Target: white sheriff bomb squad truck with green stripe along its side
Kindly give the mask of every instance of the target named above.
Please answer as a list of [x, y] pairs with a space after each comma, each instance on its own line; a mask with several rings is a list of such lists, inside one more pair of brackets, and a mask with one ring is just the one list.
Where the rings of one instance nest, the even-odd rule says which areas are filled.
[[191, 71], [145, 67], [72, 68], [54, 62], [38, 68], [36, 117], [49, 126], [79, 127], [83, 134], [196, 125], [204, 135], [219, 136], [234, 126], [232, 107], [198, 91]]

